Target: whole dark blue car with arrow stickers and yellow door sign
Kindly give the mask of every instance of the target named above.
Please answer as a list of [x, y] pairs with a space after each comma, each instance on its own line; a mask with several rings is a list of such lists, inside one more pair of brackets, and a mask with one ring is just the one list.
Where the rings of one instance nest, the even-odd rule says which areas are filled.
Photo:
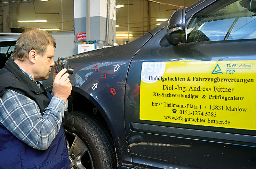
[[66, 58], [71, 167], [255, 168], [255, 13], [255, 0], [200, 0]]

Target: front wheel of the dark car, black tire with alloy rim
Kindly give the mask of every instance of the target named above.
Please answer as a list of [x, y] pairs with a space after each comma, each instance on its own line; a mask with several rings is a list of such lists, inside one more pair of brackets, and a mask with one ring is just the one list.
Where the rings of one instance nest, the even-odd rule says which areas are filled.
[[69, 112], [63, 124], [72, 169], [116, 168], [113, 142], [97, 117], [84, 112]]

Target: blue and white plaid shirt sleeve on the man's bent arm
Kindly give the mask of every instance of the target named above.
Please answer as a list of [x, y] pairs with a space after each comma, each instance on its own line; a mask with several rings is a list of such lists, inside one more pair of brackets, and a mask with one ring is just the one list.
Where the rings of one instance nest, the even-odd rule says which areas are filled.
[[58, 97], [52, 97], [41, 114], [36, 102], [8, 89], [0, 98], [0, 122], [24, 143], [46, 150], [60, 130], [67, 104]]

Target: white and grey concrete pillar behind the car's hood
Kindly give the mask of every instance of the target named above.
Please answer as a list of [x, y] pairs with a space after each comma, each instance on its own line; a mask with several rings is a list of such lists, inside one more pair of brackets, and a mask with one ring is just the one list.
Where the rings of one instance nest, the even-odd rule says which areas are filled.
[[[108, 3], [109, 2], [109, 15]], [[109, 16], [109, 19], [108, 19]], [[78, 53], [77, 33], [86, 32], [86, 0], [74, 0], [75, 53]], [[109, 22], [109, 26], [107, 25]], [[90, 0], [90, 40], [97, 41], [96, 47], [116, 43], [115, 0]], [[109, 32], [108, 32], [109, 31]], [[109, 39], [108, 39], [109, 38]]]

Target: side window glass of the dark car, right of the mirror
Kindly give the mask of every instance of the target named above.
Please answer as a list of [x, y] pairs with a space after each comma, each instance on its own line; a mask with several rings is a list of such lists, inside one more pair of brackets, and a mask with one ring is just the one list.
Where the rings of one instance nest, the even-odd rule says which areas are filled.
[[220, 0], [198, 12], [188, 26], [188, 42], [256, 38], [256, 9], [250, 4], [256, 1]]

